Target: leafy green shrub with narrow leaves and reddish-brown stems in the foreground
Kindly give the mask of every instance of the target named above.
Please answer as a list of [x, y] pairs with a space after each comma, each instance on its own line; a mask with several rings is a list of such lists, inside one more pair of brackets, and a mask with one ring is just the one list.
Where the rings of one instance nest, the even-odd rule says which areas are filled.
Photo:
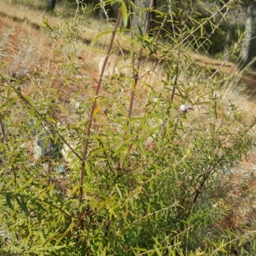
[[[131, 7], [120, 6], [124, 23]], [[56, 88], [44, 84], [47, 76], [38, 70], [33, 79], [44, 90], [31, 97], [20, 88], [28, 81], [10, 79], [1, 68], [4, 253], [255, 253], [254, 230], [216, 226], [230, 212], [221, 189], [227, 170], [251, 150], [254, 124], [248, 126], [232, 99], [221, 93], [220, 84], [232, 77], [199, 70], [186, 52], [183, 39], [196, 42], [193, 31], [204, 23], [194, 30], [173, 24], [177, 33], [166, 33], [172, 42], [167, 44], [157, 31], [172, 24], [172, 15], [157, 15], [164, 19], [154, 28], [154, 38], [147, 30], [141, 35], [131, 30], [131, 38], [125, 37], [109, 22], [109, 31], [95, 39], [108, 33], [111, 39], [123, 38], [115, 45], [109, 40], [106, 56], [124, 47], [126, 60], [119, 67], [125, 77], [100, 77], [97, 88], [79, 76], [76, 63], [81, 33], [90, 27], [85, 9], [61, 25], [45, 21], [59, 50], [60, 74], [52, 77], [60, 82]], [[63, 100], [74, 84], [83, 89]], [[84, 97], [80, 102], [79, 94]], [[35, 148], [28, 147], [38, 141], [46, 153], [35, 159]], [[64, 162], [65, 170], [60, 168]]]

